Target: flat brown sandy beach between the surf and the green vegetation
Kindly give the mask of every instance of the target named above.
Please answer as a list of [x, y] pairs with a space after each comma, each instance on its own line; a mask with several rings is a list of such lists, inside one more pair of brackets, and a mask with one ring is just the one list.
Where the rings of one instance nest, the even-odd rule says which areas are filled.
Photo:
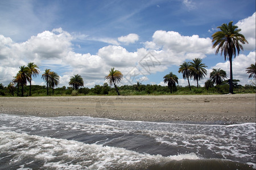
[[0, 113], [40, 117], [240, 124], [255, 122], [255, 94], [0, 97]]

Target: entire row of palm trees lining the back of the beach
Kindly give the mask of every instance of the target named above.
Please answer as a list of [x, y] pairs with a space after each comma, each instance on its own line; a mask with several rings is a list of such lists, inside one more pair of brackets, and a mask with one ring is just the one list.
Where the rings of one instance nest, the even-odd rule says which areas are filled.
[[[240, 50], [243, 50], [241, 44], [245, 44], [248, 42], [245, 39], [245, 36], [240, 33], [241, 29], [239, 29], [237, 25], [233, 25], [233, 22], [229, 22], [229, 24], [222, 24], [217, 28], [219, 28], [220, 31], [217, 31], [212, 35], [213, 48], [217, 47], [216, 55], [221, 52], [221, 55], [222, 53], [224, 54], [225, 61], [227, 58], [229, 59], [230, 79], [227, 82], [229, 83], [229, 93], [233, 94], [234, 83], [232, 57], [234, 56], [234, 58], [236, 58], [236, 53], [240, 54]], [[256, 74], [255, 64], [251, 64], [249, 67], [246, 68], [247, 74], [250, 74], [249, 78], [253, 78], [254, 81]], [[191, 85], [189, 83], [189, 79], [193, 78], [193, 80], [197, 82], [197, 88], [199, 88], [199, 80], [203, 79], [205, 75], [207, 75], [207, 70], [205, 69], [206, 67], [207, 66], [202, 63], [202, 60], [200, 58], [195, 58], [191, 62], [183, 62], [183, 64], [180, 65], [178, 72], [182, 73], [183, 78], [188, 80], [188, 86], [190, 91]], [[21, 86], [21, 96], [24, 96], [24, 86], [26, 86], [27, 82], [30, 82], [29, 96], [31, 96], [32, 76], [35, 77], [39, 75], [39, 67], [33, 62], [30, 62], [27, 66], [20, 66], [19, 69], [20, 70], [18, 71], [16, 76], [14, 76], [13, 82], [11, 82], [7, 88], [14, 95], [14, 84], [16, 84], [16, 87], [18, 88], [17, 96], [19, 96], [19, 87]], [[213, 84], [216, 84], [216, 86], [220, 85], [222, 82], [224, 82], [226, 78], [226, 71], [221, 69], [213, 69], [213, 71], [210, 73], [210, 79], [205, 82], [205, 87], [208, 89], [209, 87], [212, 87]], [[46, 82], [47, 95], [49, 95], [48, 88], [52, 88], [53, 95], [54, 88], [60, 83], [60, 76], [54, 71], [46, 69], [42, 74], [42, 79], [44, 80], [44, 82]], [[121, 82], [121, 80], [123, 79], [121, 71], [114, 70], [113, 67], [109, 71], [109, 75], [105, 76], [104, 79], [109, 82], [110, 86], [114, 85], [115, 91], [118, 95], [120, 95], [116, 84]], [[176, 83], [179, 83], [177, 75], [170, 72], [169, 74], [165, 75], [163, 79], [163, 82], [167, 83], [168, 87], [170, 88], [170, 92], [172, 93], [174, 88], [176, 88]], [[76, 74], [71, 77], [69, 85], [77, 91], [80, 87], [84, 87], [84, 80], [79, 74]], [[138, 85], [139, 82], [137, 83], [137, 86]]]

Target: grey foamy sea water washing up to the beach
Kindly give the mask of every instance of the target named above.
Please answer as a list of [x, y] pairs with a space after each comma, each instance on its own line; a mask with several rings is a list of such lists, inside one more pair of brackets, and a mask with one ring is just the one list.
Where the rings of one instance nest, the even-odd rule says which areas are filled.
[[0, 169], [253, 169], [255, 123], [0, 114]]

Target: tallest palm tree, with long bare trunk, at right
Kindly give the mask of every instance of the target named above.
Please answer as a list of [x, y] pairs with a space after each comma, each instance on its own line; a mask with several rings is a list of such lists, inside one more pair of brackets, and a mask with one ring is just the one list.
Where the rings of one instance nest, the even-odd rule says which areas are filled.
[[216, 55], [221, 50], [221, 55], [224, 53], [224, 58], [229, 59], [229, 69], [230, 69], [230, 82], [229, 82], [229, 92], [233, 94], [233, 70], [232, 70], [232, 57], [236, 58], [236, 53], [239, 55], [240, 50], [243, 50], [243, 46], [240, 44], [248, 44], [245, 36], [241, 33], [241, 29], [238, 29], [237, 25], [233, 25], [233, 21], [229, 22], [229, 24], [222, 24], [218, 26], [221, 31], [217, 31], [212, 35], [213, 48], [216, 46]]

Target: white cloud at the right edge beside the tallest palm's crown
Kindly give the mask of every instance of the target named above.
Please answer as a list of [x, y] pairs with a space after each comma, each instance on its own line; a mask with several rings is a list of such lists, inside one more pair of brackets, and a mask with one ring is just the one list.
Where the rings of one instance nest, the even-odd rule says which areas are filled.
[[249, 44], [243, 45], [243, 49], [255, 50], [255, 12], [248, 18], [240, 20], [235, 25], [241, 28], [242, 35], [244, 35], [245, 39], [249, 42]]

